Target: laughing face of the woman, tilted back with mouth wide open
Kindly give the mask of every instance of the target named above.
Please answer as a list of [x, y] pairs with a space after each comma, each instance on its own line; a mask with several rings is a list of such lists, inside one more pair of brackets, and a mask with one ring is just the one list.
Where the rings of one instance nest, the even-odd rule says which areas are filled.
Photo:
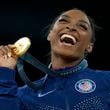
[[92, 29], [88, 17], [84, 12], [73, 9], [61, 14], [47, 39], [51, 44], [52, 56], [82, 59], [85, 51], [92, 51], [91, 37]]

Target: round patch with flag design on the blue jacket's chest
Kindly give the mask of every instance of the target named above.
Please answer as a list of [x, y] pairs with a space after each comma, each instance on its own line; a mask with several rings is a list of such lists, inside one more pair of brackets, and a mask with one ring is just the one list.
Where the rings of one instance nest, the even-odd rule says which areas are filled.
[[81, 79], [76, 82], [75, 89], [80, 93], [90, 93], [96, 89], [96, 84], [90, 79]]

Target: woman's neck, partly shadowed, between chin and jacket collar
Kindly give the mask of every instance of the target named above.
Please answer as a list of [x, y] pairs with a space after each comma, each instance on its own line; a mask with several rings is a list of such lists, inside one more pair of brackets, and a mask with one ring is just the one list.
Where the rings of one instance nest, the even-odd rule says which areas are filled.
[[59, 68], [65, 68], [65, 67], [71, 67], [71, 66], [76, 66], [77, 64], [80, 63], [81, 59], [75, 59], [75, 58], [61, 58], [61, 57], [53, 57], [52, 56], [52, 67], [54, 69], [59, 69]]

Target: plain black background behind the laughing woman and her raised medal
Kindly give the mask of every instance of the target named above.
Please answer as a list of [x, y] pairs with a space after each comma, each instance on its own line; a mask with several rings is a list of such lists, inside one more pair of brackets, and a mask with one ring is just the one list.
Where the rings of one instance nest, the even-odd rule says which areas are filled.
[[[37, 2], [37, 3], [36, 3]], [[110, 12], [107, 1], [98, 0], [40, 0], [40, 1], [2, 1], [0, 2], [0, 45], [14, 43], [27, 36], [32, 45], [28, 50], [34, 57], [46, 64], [49, 44], [46, 29], [52, 20], [62, 11], [77, 7], [90, 15], [102, 30], [96, 33], [93, 53], [87, 57], [89, 67], [110, 70]], [[34, 81], [44, 74], [29, 64], [25, 64], [28, 77]], [[16, 80], [21, 86], [19, 75]]]

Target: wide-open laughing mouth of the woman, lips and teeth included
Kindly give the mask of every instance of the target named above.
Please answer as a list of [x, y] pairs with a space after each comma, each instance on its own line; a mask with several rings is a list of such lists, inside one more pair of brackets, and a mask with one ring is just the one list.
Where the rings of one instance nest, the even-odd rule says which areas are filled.
[[60, 41], [62, 43], [67, 43], [67, 44], [71, 44], [71, 45], [75, 45], [77, 42], [77, 39], [69, 34], [63, 34], [60, 38]]

